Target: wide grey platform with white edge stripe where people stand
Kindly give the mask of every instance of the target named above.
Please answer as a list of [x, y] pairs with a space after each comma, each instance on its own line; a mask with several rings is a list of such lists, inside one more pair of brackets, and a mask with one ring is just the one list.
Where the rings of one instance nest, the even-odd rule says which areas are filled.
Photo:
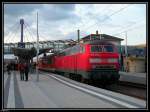
[[21, 81], [18, 71], [4, 73], [4, 109], [146, 108], [146, 101], [73, 81], [63, 76], [29, 73]]

